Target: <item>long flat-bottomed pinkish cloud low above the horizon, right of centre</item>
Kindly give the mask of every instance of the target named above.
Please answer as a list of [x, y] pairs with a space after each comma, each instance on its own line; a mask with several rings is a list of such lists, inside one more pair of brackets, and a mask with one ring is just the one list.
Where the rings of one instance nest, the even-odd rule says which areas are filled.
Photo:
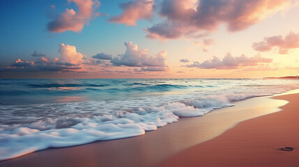
[[260, 54], [247, 57], [244, 54], [241, 56], [233, 57], [228, 53], [222, 60], [216, 56], [213, 59], [199, 63], [195, 61], [193, 64], [186, 65], [186, 67], [199, 67], [202, 69], [238, 69], [246, 66], [256, 66], [261, 63], [272, 63], [272, 58], [263, 58]]

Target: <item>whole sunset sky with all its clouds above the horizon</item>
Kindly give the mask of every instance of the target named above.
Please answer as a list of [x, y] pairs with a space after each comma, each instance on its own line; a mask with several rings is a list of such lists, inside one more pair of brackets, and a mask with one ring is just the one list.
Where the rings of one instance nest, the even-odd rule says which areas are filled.
[[298, 0], [11, 0], [0, 18], [0, 78], [299, 72]]

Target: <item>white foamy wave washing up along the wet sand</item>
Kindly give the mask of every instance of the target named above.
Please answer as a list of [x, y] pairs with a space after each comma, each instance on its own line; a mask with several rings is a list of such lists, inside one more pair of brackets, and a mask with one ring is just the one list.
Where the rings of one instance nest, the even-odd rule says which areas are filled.
[[[53, 116], [35, 122], [24, 123], [20, 120], [19, 124], [14, 122], [13, 125], [0, 125], [0, 160], [46, 148], [61, 148], [93, 141], [139, 136], [176, 122], [180, 117], [204, 116], [214, 109], [233, 106], [231, 101], [245, 98], [249, 97], [233, 94], [213, 95], [198, 100], [167, 102], [162, 106], [133, 107], [131, 110], [107, 112], [101, 116], [70, 113], [66, 116]], [[63, 113], [70, 110], [72, 106], [73, 109], [77, 109], [75, 113], [82, 113], [79, 110], [86, 104], [93, 107], [100, 105], [96, 102], [60, 104], [56, 109]], [[55, 107], [51, 105], [51, 108]], [[80, 105], [82, 108], [76, 107]], [[38, 106], [30, 107], [31, 109], [36, 107], [38, 110]], [[42, 107], [47, 109], [45, 106]]]

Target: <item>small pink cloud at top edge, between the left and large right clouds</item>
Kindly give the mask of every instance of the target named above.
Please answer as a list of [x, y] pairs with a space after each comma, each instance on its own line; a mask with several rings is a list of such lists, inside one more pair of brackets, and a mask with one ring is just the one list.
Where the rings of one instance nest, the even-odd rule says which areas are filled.
[[133, 0], [120, 4], [123, 13], [120, 16], [114, 16], [110, 22], [125, 24], [127, 26], [136, 26], [139, 19], [151, 19], [153, 17], [153, 0]]

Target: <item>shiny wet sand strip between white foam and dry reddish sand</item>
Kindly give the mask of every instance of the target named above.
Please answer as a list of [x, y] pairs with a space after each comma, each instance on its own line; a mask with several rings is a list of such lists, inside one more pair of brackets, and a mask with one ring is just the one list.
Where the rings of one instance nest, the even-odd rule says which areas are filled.
[[0, 161], [0, 166], [155, 166], [178, 152], [222, 136], [238, 122], [275, 113], [279, 111], [278, 106], [287, 103], [275, 100], [275, 105], [270, 105], [273, 102], [269, 97], [254, 97], [204, 117], [180, 119], [142, 136], [70, 148], [50, 148]]

